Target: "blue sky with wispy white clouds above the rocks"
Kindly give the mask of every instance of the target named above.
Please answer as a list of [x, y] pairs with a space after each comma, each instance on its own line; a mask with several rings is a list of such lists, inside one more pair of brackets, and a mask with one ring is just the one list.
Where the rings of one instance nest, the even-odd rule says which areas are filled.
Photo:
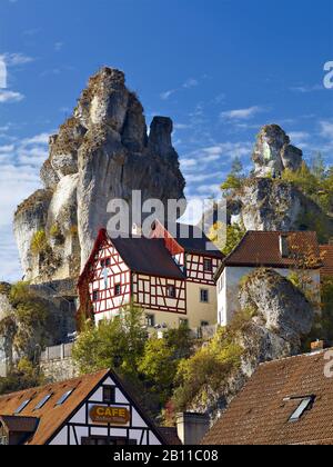
[[11, 219], [48, 135], [101, 66], [125, 71], [149, 122], [174, 120], [188, 197], [206, 197], [264, 123], [333, 160], [332, 31], [332, 0], [0, 0], [0, 280], [21, 275]]

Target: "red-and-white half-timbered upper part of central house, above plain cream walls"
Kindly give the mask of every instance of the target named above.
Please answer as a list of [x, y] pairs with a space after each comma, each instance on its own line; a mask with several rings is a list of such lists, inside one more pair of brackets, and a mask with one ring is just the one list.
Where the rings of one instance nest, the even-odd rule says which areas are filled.
[[[179, 315], [190, 312], [186, 285], [192, 282], [214, 287], [214, 274], [221, 265], [221, 254], [191, 250], [186, 245], [182, 247], [159, 222], [151, 240], [145, 240], [144, 251], [149, 255], [150, 246], [147, 241], [154, 242], [161, 239], [164, 239], [165, 250], [163, 249], [160, 260], [164, 262], [161, 264], [161, 268], [158, 260], [154, 268], [147, 268], [145, 265], [145, 270], [144, 267], [140, 269], [143, 261], [140, 244], [139, 250], [133, 244], [128, 248], [125, 239], [112, 241], [107, 231], [101, 230], [80, 277], [80, 301], [87, 285], [85, 296], [91, 302], [94, 316], [104, 315], [110, 319], [131, 302], [145, 310]], [[160, 251], [159, 248], [152, 250], [157, 255]], [[168, 266], [170, 276], [165, 271], [168, 258], [171, 264]], [[163, 267], [165, 274], [160, 275], [159, 271], [162, 271]], [[82, 287], [84, 290], [81, 290]]]

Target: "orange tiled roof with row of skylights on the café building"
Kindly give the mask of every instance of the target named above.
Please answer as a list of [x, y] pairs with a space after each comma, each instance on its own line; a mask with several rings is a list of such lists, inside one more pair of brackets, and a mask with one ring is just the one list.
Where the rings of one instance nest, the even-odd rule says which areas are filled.
[[[46, 445], [57, 435], [63, 424], [72, 417], [80, 404], [88, 399], [108, 376], [111, 376], [120, 390], [135, 406], [138, 413], [147, 421], [148, 426], [155, 431], [161, 443], [168, 445], [169, 440], [163, 436], [163, 433], [143, 413], [140, 404], [127, 385], [111, 370], [101, 370], [80, 378], [0, 396], [0, 420], [7, 420], [12, 427], [29, 428], [29, 430], [22, 429], [24, 433], [32, 434], [27, 441], [28, 445]], [[68, 399], [62, 405], [57, 406], [59, 399], [68, 391], [72, 391]], [[39, 410], [36, 410], [38, 404], [49, 395], [51, 395], [51, 398]], [[30, 400], [29, 404], [16, 416], [16, 410], [27, 400]], [[33, 424], [36, 430], [30, 431]]]

